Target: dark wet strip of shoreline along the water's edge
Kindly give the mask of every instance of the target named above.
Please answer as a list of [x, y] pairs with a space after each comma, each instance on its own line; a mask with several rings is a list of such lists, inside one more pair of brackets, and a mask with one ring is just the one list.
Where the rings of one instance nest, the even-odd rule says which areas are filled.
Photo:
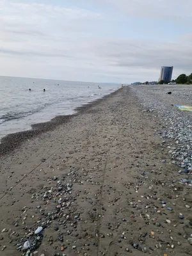
[[76, 113], [72, 115], [60, 115], [55, 116], [51, 120], [43, 123], [33, 124], [31, 125], [31, 129], [27, 131], [20, 131], [16, 133], [10, 133], [1, 138], [0, 143], [0, 157], [8, 154], [15, 150], [15, 148], [20, 147], [22, 143], [26, 140], [30, 140], [39, 136], [40, 134], [54, 130], [58, 125], [63, 125], [71, 120], [74, 116], [80, 115], [84, 113], [87, 109], [92, 108], [93, 106], [99, 104], [102, 100], [108, 99], [119, 92], [120, 89], [115, 90], [115, 92], [109, 93], [108, 95], [104, 95], [103, 97], [93, 100], [92, 102], [87, 102], [81, 106], [78, 106], [74, 109]]

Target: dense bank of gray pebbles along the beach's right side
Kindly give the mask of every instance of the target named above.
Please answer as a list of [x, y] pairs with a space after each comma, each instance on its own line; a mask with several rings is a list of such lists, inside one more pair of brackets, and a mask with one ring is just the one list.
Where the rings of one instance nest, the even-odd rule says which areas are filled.
[[[159, 136], [170, 150], [168, 154], [172, 163], [184, 170], [180, 174], [192, 172], [192, 112], [180, 111], [176, 105], [192, 106], [191, 85], [150, 85], [134, 86], [141, 105], [157, 116], [161, 121]], [[171, 94], [168, 94], [171, 92]], [[144, 110], [145, 111], [145, 110]], [[166, 140], [165, 140], [166, 139]], [[189, 176], [190, 177], [190, 176]], [[181, 182], [192, 186], [192, 180], [182, 179]]]

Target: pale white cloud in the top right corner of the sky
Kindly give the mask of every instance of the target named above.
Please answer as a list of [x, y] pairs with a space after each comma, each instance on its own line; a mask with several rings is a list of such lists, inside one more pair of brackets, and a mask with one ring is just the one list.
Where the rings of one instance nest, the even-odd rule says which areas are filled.
[[[86, 0], [83, 2], [86, 3]], [[192, 19], [191, 0], [90, 0], [89, 2], [105, 6], [116, 13], [137, 15], [148, 19], [166, 18], [179, 22], [181, 19]]]

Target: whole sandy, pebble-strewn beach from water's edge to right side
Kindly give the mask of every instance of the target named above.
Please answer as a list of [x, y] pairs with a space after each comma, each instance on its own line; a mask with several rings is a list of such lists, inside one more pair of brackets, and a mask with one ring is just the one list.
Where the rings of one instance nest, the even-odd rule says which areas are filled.
[[190, 95], [125, 86], [3, 139], [1, 255], [192, 255]]

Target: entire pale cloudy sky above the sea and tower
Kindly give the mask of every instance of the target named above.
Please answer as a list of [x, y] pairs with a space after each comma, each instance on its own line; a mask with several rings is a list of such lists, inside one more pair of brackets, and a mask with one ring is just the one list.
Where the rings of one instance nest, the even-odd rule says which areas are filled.
[[102, 83], [192, 72], [191, 0], [0, 0], [0, 76]]

